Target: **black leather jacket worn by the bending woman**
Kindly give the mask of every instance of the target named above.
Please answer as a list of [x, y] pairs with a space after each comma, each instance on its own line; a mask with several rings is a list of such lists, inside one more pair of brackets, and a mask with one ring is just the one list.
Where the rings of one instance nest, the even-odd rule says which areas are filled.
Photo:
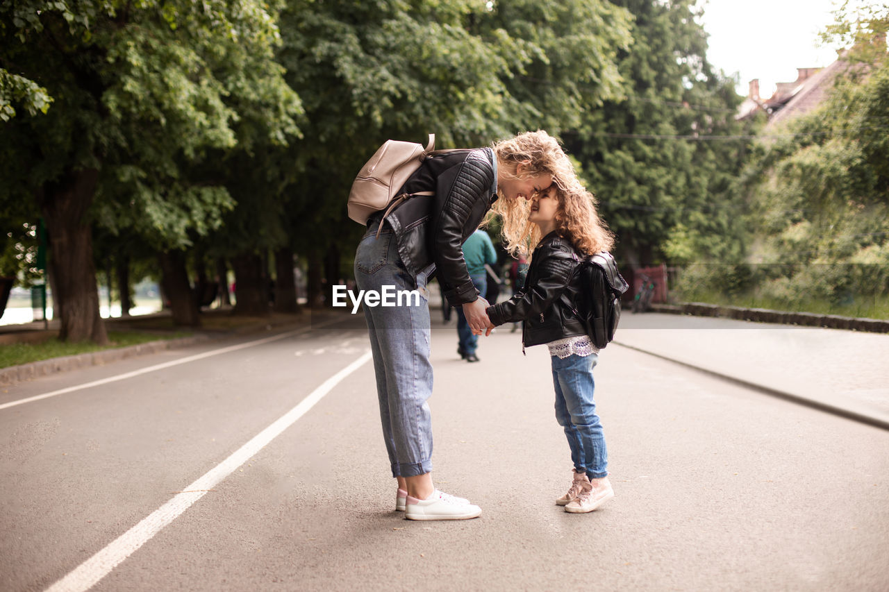
[[[413, 196], [386, 222], [395, 233], [398, 254], [412, 276], [435, 264], [442, 292], [452, 306], [477, 299], [463, 243], [476, 231], [497, 194], [493, 150], [454, 150], [427, 158], [399, 193], [435, 191], [435, 196]], [[381, 214], [368, 220], [368, 226]]]

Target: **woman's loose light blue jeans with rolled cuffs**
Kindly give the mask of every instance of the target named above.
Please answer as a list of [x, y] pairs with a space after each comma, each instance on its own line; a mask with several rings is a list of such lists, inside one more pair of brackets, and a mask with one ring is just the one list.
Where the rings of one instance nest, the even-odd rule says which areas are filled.
[[377, 238], [378, 226], [373, 223], [358, 244], [355, 255], [358, 289], [381, 293], [383, 286], [388, 285], [396, 291], [416, 289], [421, 296], [419, 304], [413, 299], [394, 307], [364, 304], [383, 439], [392, 476], [424, 475], [432, 470], [432, 418], [426, 403], [432, 395], [426, 283], [434, 266], [418, 274], [414, 283], [398, 254], [391, 229], [383, 228]]

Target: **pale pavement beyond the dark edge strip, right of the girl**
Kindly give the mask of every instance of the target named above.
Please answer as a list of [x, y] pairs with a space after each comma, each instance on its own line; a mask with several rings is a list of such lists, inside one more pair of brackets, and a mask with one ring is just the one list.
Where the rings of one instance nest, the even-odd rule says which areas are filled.
[[627, 312], [615, 343], [889, 428], [889, 335]]

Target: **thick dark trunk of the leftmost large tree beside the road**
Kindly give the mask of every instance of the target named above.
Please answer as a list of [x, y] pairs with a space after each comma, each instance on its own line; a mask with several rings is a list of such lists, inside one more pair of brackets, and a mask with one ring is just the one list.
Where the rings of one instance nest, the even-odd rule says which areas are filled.
[[37, 203], [52, 240], [53, 297], [60, 305], [53, 316], [60, 318], [59, 339], [105, 345], [108, 333], [99, 314], [92, 228], [86, 220], [98, 179], [95, 169], [68, 171], [38, 190]]

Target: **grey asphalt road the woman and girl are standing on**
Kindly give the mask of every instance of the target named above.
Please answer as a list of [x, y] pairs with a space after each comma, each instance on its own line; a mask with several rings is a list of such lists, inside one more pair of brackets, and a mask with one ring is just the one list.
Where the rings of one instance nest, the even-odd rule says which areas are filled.
[[[484, 513], [406, 521], [372, 365], [341, 372], [368, 347], [343, 318], [4, 389], [0, 405], [208, 354], [0, 409], [0, 588], [77, 573], [94, 590], [889, 589], [889, 431], [615, 345], [596, 377], [616, 497], [568, 514], [545, 348], [522, 356], [501, 329], [467, 364], [453, 321], [432, 332], [434, 477]], [[78, 571], [109, 548], [119, 564]]]

